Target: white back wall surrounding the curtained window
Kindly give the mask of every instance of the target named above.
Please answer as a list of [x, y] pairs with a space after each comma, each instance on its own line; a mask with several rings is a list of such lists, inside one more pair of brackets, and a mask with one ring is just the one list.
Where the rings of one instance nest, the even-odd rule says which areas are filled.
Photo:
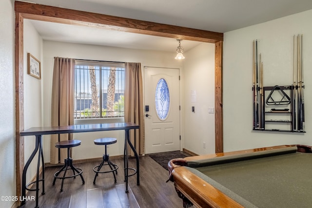
[[[157, 52], [145, 50], [133, 50], [124, 48], [113, 48], [95, 45], [83, 45], [74, 43], [63, 43], [56, 41], [43, 42], [44, 56], [44, 87], [43, 87], [43, 106], [44, 106], [44, 125], [49, 126], [51, 121], [51, 86], [53, 75], [54, 57], [71, 57], [77, 59], [122, 61], [122, 62], [140, 62], [142, 70], [144, 66], [150, 67], [171, 67], [181, 68], [183, 62], [175, 60], [175, 52]], [[94, 121], [99, 122], [99, 120]], [[105, 121], [103, 121], [105, 122]], [[112, 122], [108, 120], [108, 122]], [[122, 121], [119, 121], [122, 122]], [[94, 133], [75, 133], [74, 138], [81, 140], [81, 145], [73, 150], [73, 159], [97, 158], [103, 154], [103, 147], [96, 146], [94, 139], [108, 136], [121, 138], [117, 144], [109, 146], [109, 154], [123, 155], [124, 131], [94, 132]], [[49, 140], [44, 139], [44, 157], [48, 162], [50, 160]], [[91, 151], [92, 150], [92, 151]], [[83, 153], [81, 153], [83, 152]]]

